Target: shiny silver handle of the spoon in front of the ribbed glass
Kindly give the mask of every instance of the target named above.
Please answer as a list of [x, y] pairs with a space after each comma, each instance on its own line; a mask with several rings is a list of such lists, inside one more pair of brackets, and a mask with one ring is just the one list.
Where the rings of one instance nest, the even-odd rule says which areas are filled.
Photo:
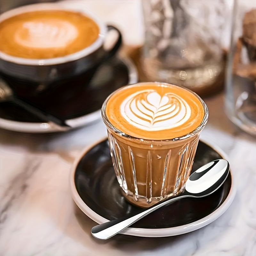
[[144, 216], [148, 215], [150, 212], [154, 212], [156, 209], [158, 209], [164, 205], [171, 204], [180, 198], [188, 197], [189, 194], [186, 192], [187, 191], [185, 191], [181, 195], [173, 196], [172, 198], [168, 198], [164, 201], [161, 201], [147, 209], [142, 209], [139, 213], [137, 213], [131, 217], [126, 216], [121, 219], [111, 220], [111, 221], [102, 223], [100, 225], [97, 225], [97, 226], [93, 227], [91, 230], [92, 236], [94, 236], [100, 240], [106, 240], [106, 239], [118, 234], [119, 232], [124, 230], [124, 228], [131, 226], [134, 222], [140, 220]]

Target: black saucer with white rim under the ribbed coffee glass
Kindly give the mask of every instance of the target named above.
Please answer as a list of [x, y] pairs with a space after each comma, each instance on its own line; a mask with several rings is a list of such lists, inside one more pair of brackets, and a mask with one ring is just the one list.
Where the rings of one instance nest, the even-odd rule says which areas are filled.
[[[191, 172], [220, 158], [226, 159], [225, 154], [200, 140]], [[107, 139], [87, 148], [77, 158], [70, 173], [70, 188], [77, 206], [99, 224], [124, 217], [138, 209], [121, 194]], [[212, 195], [196, 199], [183, 198], [145, 216], [121, 234], [164, 237], [194, 231], [220, 217], [234, 196], [235, 186], [230, 171], [227, 180]]]

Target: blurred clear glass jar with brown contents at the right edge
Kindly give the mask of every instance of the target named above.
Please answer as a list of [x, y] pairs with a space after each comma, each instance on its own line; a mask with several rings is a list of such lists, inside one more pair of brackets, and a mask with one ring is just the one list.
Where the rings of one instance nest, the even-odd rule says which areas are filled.
[[225, 108], [229, 119], [256, 135], [256, 2], [234, 4]]

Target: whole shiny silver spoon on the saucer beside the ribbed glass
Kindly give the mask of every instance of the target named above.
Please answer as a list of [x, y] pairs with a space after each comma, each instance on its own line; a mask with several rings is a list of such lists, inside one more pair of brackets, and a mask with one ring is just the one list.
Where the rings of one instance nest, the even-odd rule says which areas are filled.
[[208, 196], [220, 188], [228, 177], [228, 172], [229, 163], [227, 160], [219, 159], [205, 164], [189, 176], [185, 185], [185, 191], [182, 194], [168, 198], [147, 209], [141, 209], [139, 213], [133, 216], [125, 216], [121, 219], [97, 225], [91, 230], [92, 236], [106, 240], [164, 205], [171, 204], [184, 197]]

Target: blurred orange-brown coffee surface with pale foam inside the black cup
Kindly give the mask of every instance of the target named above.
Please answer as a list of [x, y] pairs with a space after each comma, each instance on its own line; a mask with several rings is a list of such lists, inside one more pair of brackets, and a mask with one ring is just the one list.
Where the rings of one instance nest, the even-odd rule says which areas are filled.
[[0, 51], [26, 59], [63, 57], [93, 44], [96, 22], [66, 10], [24, 12], [0, 22]]

